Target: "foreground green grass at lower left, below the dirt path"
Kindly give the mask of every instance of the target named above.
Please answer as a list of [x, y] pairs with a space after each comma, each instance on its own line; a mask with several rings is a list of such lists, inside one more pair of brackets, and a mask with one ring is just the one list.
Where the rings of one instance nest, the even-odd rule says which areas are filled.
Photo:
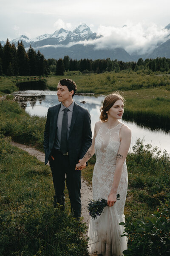
[[85, 224], [53, 207], [49, 166], [0, 137], [0, 255], [85, 256]]

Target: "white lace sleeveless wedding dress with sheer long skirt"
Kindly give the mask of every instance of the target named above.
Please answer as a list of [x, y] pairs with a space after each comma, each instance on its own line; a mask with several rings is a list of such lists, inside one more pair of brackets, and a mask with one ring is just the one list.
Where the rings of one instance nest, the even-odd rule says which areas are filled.
[[[108, 129], [106, 122], [102, 122], [95, 139], [96, 164], [94, 166], [92, 189], [93, 199], [108, 199], [113, 184], [116, 158], [119, 150], [120, 122], [116, 127]], [[127, 167], [123, 164], [122, 176], [117, 194], [120, 200], [112, 207], [105, 207], [104, 211], [89, 224], [88, 252], [97, 252], [102, 256], [119, 256], [127, 249], [127, 239], [121, 237], [124, 228], [120, 222], [125, 222], [124, 206], [127, 194]]]

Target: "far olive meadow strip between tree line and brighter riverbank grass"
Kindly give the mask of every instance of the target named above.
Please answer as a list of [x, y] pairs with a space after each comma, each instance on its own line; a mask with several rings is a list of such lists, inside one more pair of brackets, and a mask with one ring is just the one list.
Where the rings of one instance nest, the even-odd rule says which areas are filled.
[[77, 84], [77, 93], [109, 94], [114, 90], [142, 90], [147, 88], [162, 88], [170, 90], [169, 75], [146, 75], [136, 72], [122, 71], [119, 73], [105, 72], [102, 74], [79, 74], [76, 72], [65, 73], [64, 76], [49, 76], [47, 86], [56, 90], [60, 79], [67, 77]]

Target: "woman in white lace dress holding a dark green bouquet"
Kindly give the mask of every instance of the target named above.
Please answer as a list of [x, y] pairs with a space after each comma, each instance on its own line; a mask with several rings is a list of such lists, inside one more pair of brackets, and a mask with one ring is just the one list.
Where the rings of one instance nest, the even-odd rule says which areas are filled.
[[[131, 131], [119, 120], [124, 112], [124, 99], [119, 93], [106, 96], [100, 109], [99, 122], [94, 128], [94, 137], [76, 169], [96, 153], [92, 189], [93, 200], [104, 198], [108, 207], [96, 219], [91, 218], [88, 230], [88, 252], [102, 256], [119, 256], [127, 249], [126, 237], [121, 237], [125, 222], [124, 206], [127, 194], [126, 156], [131, 142]], [[120, 200], [116, 201], [116, 195]]]

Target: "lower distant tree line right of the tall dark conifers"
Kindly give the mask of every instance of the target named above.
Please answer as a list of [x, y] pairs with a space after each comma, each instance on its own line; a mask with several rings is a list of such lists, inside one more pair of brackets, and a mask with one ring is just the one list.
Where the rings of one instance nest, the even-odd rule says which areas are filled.
[[73, 60], [69, 56], [64, 56], [56, 60], [50, 58], [48, 61], [48, 67], [52, 73], [56, 75], [64, 75], [65, 71], [79, 70], [82, 73], [103, 73], [105, 71], [115, 71], [116, 73], [122, 70], [147, 70], [148, 73], [160, 71], [170, 73], [170, 59], [169, 58], [156, 58], [156, 59], [145, 59], [139, 58], [137, 62], [135, 61], [118, 61], [107, 59], [81, 59]]

